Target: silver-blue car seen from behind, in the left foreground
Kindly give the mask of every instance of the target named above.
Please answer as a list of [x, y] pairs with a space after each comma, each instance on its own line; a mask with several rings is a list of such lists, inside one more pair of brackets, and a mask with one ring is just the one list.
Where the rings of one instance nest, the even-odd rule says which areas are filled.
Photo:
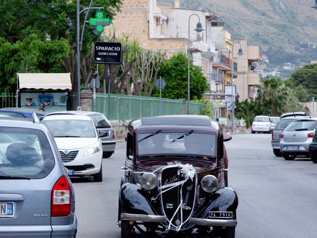
[[0, 117], [0, 184], [0, 237], [76, 237], [74, 189], [36, 117]]

